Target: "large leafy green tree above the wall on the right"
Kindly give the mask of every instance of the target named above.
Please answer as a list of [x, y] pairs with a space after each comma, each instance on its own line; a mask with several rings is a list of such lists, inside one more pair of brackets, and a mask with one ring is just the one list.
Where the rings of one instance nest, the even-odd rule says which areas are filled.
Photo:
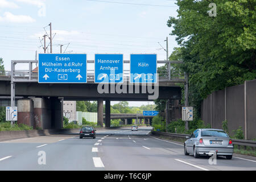
[[177, 18], [170, 17], [181, 46], [175, 59], [189, 74], [189, 101], [197, 107], [215, 90], [256, 78], [256, 11], [254, 0], [214, 0], [217, 16], [208, 14], [209, 1], [177, 1]]

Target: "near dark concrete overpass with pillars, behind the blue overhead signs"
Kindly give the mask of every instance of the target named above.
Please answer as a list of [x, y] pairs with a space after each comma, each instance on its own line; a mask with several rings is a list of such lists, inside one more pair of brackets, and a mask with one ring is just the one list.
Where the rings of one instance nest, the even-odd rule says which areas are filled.
[[[94, 61], [87, 61], [87, 63]], [[18, 63], [29, 64], [28, 71], [16, 71]], [[124, 76], [124, 84], [94, 83], [94, 73], [87, 74], [86, 84], [39, 84], [38, 73], [32, 70], [32, 64], [38, 61], [12, 61], [12, 71], [0, 76], [0, 96], [23, 97], [18, 100], [18, 123], [40, 127], [42, 129], [59, 129], [63, 127], [63, 101], [97, 101], [98, 125], [103, 126], [103, 101], [105, 101], [105, 126], [110, 126], [110, 101], [154, 101], [180, 100], [181, 88], [177, 82], [183, 78], [158, 78], [158, 84], [130, 84], [129, 77]], [[159, 61], [158, 61], [159, 63]], [[160, 63], [162, 63], [160, 61]], [[163, 61], [162, 64], [169, 63]], [[176, 62], [175, 62], [176, 63]], [[180, 63], [180, 62], [179, 62]], [[89, 70], [87, 70], [89, 72]], [[125, 74], [124, 74], [125, 75]], [[101, 87], [101, 89], [99, 89]], [[105, 92], [99, 92], [105, 90]], [[118, 92], [121, 90], [121, 92]], [[131, 119], [131, 118], [127, 118]]]

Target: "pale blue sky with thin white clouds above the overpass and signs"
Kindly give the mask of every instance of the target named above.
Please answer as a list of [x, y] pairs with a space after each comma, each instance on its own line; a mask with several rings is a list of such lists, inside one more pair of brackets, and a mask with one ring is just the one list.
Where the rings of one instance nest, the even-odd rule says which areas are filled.
[[11, 60], [34, 60], [36, 51], [43, 53], [40, 40], [51, 22], [53, 53], [63, 44], [63, 52], [86, 53], [88, 60], [95, 53], [123, 53], [124, 60], [131, 53], [156, 53], [166, 60], [158, 42], [166, 48], [168, 36], [169, 53], [177, 47], [167, 27], [176, 10], [173, 0], [0, 0], [0, 57], [8, 71]]

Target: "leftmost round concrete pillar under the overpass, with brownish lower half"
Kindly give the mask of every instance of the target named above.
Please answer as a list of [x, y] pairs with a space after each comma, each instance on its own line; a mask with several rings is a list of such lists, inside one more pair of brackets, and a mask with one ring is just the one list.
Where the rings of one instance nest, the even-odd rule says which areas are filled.
[[18, 124], [34, 127], [33, 102], [31, 99], [18, 100]]

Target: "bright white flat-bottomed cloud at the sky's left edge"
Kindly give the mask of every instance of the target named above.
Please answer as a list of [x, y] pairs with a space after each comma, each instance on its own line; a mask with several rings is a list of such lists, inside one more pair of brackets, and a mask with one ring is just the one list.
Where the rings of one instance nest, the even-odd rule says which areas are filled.
[[10, 12], [5, 12], [3, 16], [0, 16], [0, 22], [11, 22], [11, 23], [32, 23], [35, 19], [27, 15], [14, 15]]

